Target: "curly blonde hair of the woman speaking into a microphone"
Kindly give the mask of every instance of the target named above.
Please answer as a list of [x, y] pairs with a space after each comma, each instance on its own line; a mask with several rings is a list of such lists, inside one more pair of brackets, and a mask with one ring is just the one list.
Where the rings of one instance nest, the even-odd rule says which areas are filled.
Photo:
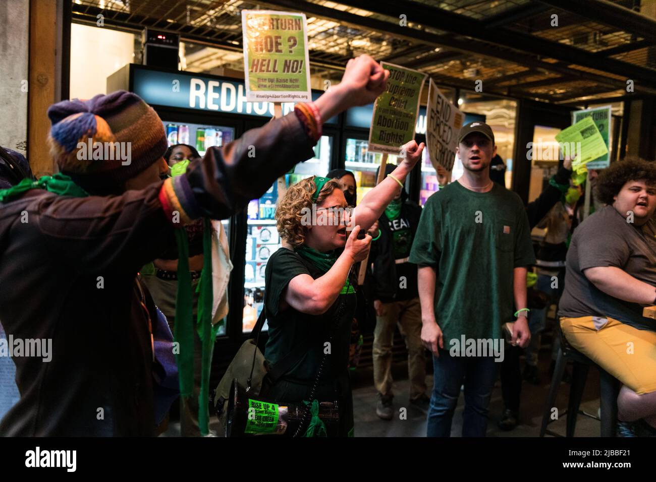
[[[331, 195], [333, 190], [341, 189], [338, 180], [331, 179], [319, 191], [316, 203]], [[312, 196], [317, 190], [314, 176], [289, 186], [276, 208], [276, 228], [280, 237], [293, 247], [303, 244], [307, 228], [301, 224], [304, 208], [312, 209]]]

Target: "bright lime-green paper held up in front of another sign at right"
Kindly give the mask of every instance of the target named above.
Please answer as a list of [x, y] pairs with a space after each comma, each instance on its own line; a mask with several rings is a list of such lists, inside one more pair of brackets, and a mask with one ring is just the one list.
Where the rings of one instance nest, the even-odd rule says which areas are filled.
[[592, 117], [583, 117], [574, 125], [558, 132], [556, 140], [565, 156], [577, 155], [572, 162], [574, 169], [594, 161], [608, 152], [604, 139]]

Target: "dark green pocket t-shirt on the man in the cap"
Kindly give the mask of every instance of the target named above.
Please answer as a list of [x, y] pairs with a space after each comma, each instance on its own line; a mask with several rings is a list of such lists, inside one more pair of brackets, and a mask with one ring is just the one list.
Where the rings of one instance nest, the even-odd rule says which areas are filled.
[[452, 182], [428, 198], [410, 262], [436, 270], [435, 318], [449, 340], [501, 338], [514, 321], [513, 270], [535, 263], [522, 200], [498, 184], [486, 193]]

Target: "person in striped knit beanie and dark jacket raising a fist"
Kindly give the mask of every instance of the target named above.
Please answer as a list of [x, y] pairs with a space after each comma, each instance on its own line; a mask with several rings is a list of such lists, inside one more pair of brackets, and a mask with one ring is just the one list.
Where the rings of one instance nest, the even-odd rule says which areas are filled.
[[[314, 157], [325, 119], [373, 102], [388, 76], [369, 56], [352, 59], [342, 82], [315, 102], [209, 148], [184, 174], [163, 181], [163, 123], [138, 96], [119, 91], [51, 106], [49, 144], [60, 172], [0, 190], [0, 280], [11, 287], [0, 290], [0, 319], [8, 336], [41, 340], [47, 351], [12, 353], [21, 396], [0, 420], [0, 433], [154, 435], [157, 317], [135, 281], [138, 271], [155, 258], [177, 257], [178, 275], [186, 270], [188, 277], [188, 258], [197, 253], [186, 251], [180, 228], [228, 218], [260, 197]], [[179, 285], [188, 285], [182, 299], [190, 302], [186, 281]], [[183, 305], [177, 362], [180, 394], [190, 397], [195, 326], [191, 306]], [[202, 329], [205, 353], [205, 319]], [[201, 433], [207, 418], [199, 413]]]

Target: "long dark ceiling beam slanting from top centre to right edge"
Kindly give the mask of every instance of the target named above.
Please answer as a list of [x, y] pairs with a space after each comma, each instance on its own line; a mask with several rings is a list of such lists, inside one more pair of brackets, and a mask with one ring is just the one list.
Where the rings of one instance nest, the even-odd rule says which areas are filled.
[[[588, 2], [588, 0], [585, 1]], [[522, 50], [543, 56], [544, 58], [556, 58], [569, 64], [577, 64], [615, 73], [616, 75], [626, 76], [628, 79], [640, 79], [644, 85], [656, 87], [655, 70], [628, 64], [627, 62], [613, 58], [600, 59], [586, 50], [542, 39], [536, 35], [520, 33], [504, 28], [497, 28], [493, 31], [486, 30], [485, 22], [482, 20], [476, 20], [447, 10], [430, 7], [422, 3], [409, 2], [407, 0], [376, 0], [373, 3], [371, 0], [340, 0], [340, 3], [349, 7], [373, 11], [392, 18], [399, 18], [400, 14], [407, 14], [408, 22], [415, 22], [416, 24], [429, 26], [437, 30], [472, 37], [473, 39], [493, 43], [506, 49]], [[604, 1], [604, 3], [606, 2]], [[599, 10], [598, 7], [590, 8]], [[417, 30], [415, 29], [415, 31]]]

